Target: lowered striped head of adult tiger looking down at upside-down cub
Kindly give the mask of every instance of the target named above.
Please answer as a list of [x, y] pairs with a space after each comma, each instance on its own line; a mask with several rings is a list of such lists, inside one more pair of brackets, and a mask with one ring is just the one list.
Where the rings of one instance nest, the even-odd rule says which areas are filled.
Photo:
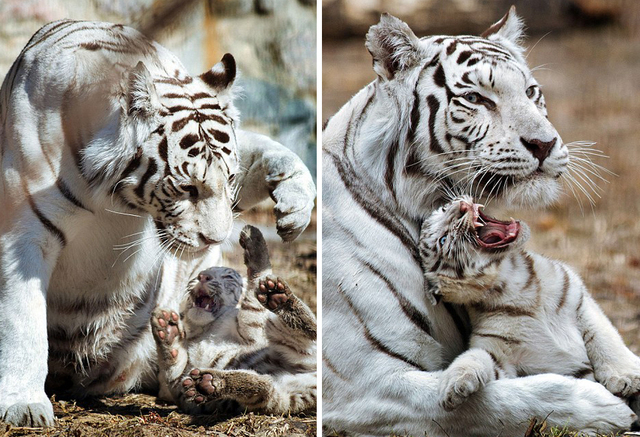
[[142, 62], [128, 75], [121, 124], [137, 150], [123, 164], [114, 191], [151, 215], [167, 247], [199, 252], [231, 232], [238, 171], [235, 75], [230, 54], [198, 77], [178, 69], [172, 76], [151, 74]]

